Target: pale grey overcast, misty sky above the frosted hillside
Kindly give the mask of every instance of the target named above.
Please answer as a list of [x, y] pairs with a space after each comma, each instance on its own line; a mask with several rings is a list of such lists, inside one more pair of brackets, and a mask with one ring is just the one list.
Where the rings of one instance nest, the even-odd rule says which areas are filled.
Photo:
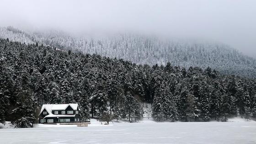
[[0, 26], [219, 41], [256, 57], [256, 0], [1, 0]]

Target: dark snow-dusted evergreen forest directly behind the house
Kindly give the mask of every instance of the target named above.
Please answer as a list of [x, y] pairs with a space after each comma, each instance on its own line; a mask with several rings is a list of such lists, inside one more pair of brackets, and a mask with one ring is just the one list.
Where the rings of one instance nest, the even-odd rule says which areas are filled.
[[117, 120], [226, 121], [256, 117], [256, 80], [198, 67], [136, 65], [123, 59], [60, 51], [0, 39], [0, 122], [37, 123], [42, 104], [78, 103], [82, 117]]

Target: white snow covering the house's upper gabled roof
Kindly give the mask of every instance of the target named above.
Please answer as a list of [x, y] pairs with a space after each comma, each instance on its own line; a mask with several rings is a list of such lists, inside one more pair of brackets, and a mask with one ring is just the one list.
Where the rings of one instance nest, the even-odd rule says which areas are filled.
[[67, 107], [72, 107], [73, 110], [77, 110], [78, 104], [75, 103], [69, 103], [69, 104], [45, 104], [42, 106], [40, 114], [43, 112], [44, 109], [49, 114], [52, 114], [52, 110], [65, 110]]

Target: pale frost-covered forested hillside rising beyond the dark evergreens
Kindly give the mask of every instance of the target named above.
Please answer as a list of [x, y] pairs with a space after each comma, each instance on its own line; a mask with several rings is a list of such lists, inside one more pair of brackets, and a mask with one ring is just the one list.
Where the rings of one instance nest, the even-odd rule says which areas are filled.
[[77, 37], [58, 31], [24, 32], [1, 27], [0, 37], [21, 43], [36, 43], [59, 49], [99, 54], [125, 59], [136, 64], [179, 65], [188, 69], [208, 66], [223, 74], [256, 77], [256, 59], [219, 43], [202, 43], [166, 39], [137, 34], [116, 34], [108, 37]]

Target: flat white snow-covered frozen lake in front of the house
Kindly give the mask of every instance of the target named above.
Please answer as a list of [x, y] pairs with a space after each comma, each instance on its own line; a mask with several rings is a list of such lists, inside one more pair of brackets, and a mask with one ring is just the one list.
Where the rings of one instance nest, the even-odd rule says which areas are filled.
[[256, 122], [114, 123], [0, 129], [0, 144], [256, 144]]

